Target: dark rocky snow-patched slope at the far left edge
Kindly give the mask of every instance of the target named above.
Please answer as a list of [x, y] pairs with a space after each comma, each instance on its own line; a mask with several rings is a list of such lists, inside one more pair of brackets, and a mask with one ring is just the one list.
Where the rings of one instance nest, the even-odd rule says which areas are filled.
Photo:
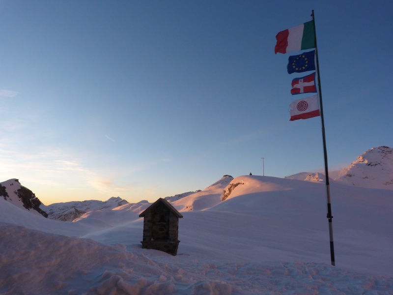
[[29, 210], [33, 214], [48, 217], [48, 214], [40, 208], [41, 201], [31, 190], [23, 186], [19, 179], [12, 178], [0, 182], [0, 197], [17, 207]]

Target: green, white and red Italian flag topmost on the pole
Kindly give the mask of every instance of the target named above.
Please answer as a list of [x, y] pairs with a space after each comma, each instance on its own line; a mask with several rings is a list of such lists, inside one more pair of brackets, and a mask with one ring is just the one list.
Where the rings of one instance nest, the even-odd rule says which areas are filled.
[[315, 32], [313, 21], [291, 29], [285, 29], [276, 35], [277, 44], [274, 53], [287, 53], [315, 48]]

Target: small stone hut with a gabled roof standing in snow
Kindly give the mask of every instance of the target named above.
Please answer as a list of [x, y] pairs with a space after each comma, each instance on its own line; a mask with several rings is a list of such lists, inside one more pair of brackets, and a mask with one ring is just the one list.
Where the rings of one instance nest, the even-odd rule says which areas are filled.
[[155, 249], [175, 256], [179, 246], [179, 218], [181, 215], [165, 199], [158, 199], [139, 214], [143, 217], [142, 248]]

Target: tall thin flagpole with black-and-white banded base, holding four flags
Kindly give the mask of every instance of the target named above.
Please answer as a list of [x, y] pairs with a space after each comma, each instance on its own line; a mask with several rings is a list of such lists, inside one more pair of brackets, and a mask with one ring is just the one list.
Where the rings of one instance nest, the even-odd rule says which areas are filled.
[[315, 59], [316, 59], [316, 71], [318, 76], [318, 92], [319, 92], [319, 109], [321, 113], [321, 127], [322, 127], [322, 142], [323, 142], [323, 157], [325, 161], [325, 184], [326, 184], [326, 203], [327, 203], [327, 215], [326, 217], [329, 220], [329, 238], [330, 238], [330, 258], [332, 261], [332, 266], [336, 265], [335, 262], [335, 247], [333, 242], [333, 221], [332, 221], [332, 206], [330, 199], [330, 185], [329, 185], [329, 171], [328, 171], [328, 153], [326, 151], [326, 139], [325, 139], [325, 123], [323, 119], [323, 107], [322, 107], [322, 90], [321, 90], [321, 78], [319, 75], [319, 60], [318, 60], [318, 48], [316, 43], [316, 31], [315, 31], [315, 18], [314, 18], [314, 10], [311, 12], [312, 24], [314, 26], [314, 34], [315, 34]]

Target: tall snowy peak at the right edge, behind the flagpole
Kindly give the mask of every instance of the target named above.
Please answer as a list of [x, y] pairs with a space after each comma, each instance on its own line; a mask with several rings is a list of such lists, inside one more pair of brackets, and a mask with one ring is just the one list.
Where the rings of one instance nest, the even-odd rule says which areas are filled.
[[358, 187], [393, 190], [393, 148], [381, 146], [365, 151], [342, 169], [335, 180]]

